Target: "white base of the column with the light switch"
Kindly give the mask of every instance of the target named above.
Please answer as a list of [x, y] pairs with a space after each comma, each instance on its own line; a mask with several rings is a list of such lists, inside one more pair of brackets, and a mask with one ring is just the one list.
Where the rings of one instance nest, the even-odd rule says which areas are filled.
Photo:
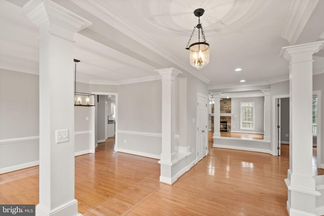
[[81, 216], [79, 212], [77, 212], [77, 200], [73, 199], [70, 202], [67, 202], [59, 207], [54, 209], [48, 209], [41, 203], [36, 205], [36, 216]]

